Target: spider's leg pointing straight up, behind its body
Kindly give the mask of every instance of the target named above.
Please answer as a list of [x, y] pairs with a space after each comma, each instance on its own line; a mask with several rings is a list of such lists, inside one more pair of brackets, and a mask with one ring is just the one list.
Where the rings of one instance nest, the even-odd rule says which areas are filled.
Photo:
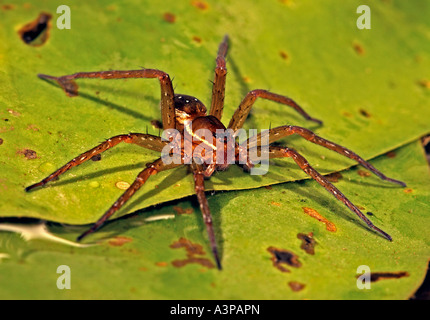
[[216, 58], [215, 77], [212, 87], [212, 102], [209, 114], [221, 120], [222, 111], [224, 108], [225, 97], [225, 80], [227, 77], [227, 68], [225, 57], [228, 50], [228, 36], [225, 35], [224, 39], [219, 45], [218, 55]]

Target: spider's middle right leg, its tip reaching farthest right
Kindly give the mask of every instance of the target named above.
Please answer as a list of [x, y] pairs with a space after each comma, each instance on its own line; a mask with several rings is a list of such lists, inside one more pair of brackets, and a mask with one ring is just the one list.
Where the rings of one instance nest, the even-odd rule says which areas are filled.
[[[269, 130], [269, 144], [275, 142], [276, 140], [279, 140], [281, 138], [284, 138], [286, 136], [289, 136], [289, 135], [292, 135], [295, 133], [300, 135], [301, 137], [305, 138], [306, 140], [312, 142], [312, 143], [315, 143], [315, 144], [323, 146], [327, 149], [336, 151], [337, 153], [339, 153], [339, 154], [341, 154], [347, 158], [350, 158], [352, 160], [357, 161], [360, 165], [362, 165], [363, 167], [365, 167], [368, 170], [370, 170], [371, 172], [373, 172], [375, 175], [377, 175], [382, 180], [396, 183], [398, 185], [401, 185], [402, 187], [406, 186], [406, 184], [402, 181], [388, 178], [382, 172], [380, 172], [378, 169], [376, 169], [374, 166], [372, 166], [369, 162], [365, 161], [363, 158], [361, 158], [359, 155], [357, 155], [355, 152], [353, 152], [353, 151], [351, 151], [345, 147], [342, 147], [339, 144], [336, 144], [334, 142], [331, 142], [329, 140], [321, 138], [321, 137], [317, 136], [315, 133], [313, 133], [312, 131], [305, 129], [305, 128], [302, 128], [302, 127], [281, 126], [281, 127], [270, 129]], [[252, 148], [252, 147], [255, 147], [257, 145], [260, 145], [261, 144], [260, 137], [261, 137], [261, 133], [248, 139], [248, 148]]]

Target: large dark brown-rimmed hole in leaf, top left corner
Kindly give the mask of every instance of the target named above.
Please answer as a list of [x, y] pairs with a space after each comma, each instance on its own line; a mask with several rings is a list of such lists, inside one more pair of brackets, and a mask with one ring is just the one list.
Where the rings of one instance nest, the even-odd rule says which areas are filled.
[[49, 38], [51, 19], [51, 14], [46, 12], [40, 13], [35, 20], [19, 29], [18, 34], [22, 41], [31, 46], [41, 46], [46, 43]]

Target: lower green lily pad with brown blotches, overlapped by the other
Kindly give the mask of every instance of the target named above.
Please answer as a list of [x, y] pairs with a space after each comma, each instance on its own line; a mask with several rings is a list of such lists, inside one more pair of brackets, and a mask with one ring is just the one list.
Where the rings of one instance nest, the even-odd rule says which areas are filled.
[[[73, 239], [83, 227], [48, 224], [47, 237], [42, 225], [3, 220], [0, 230], [18, 232], [0, 232], [0, 298], [407, 299], [423, 281], [430, 257], [428, 165], [419, 143], [372, 164], [398, 173], [408, 187], [387, 185], [357, 168], [341, 172], [335, 184], [372, 213], [368, 217], [392, 242], [315, 181], [209, 196], [222, 271], [214, 267], [193, 199], [117, 219], [92, 236], [97, 245], [82, 248]], [[336, 231], [303, 208], [316, 210]], [[310, 238], [306, 250], [299, 239], [304, 236]], [[57, 287], [63, 283], [59, 266], [70, 268], [70, 289]], [[368, 289], [357, 286], [363, 266], [372, 275]]]

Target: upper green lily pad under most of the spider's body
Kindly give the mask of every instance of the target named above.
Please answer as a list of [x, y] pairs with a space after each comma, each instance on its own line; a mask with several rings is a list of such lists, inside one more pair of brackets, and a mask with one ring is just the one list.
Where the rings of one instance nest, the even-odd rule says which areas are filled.
[[[55, 1], [14, 1], [0, 9], [0, 216], [93, 222], [121, 194], [117, 182], [132, 182], [145, 163], [158, 157], [136, 146], [118, 146], [102, 161], [74, 168], [47, 188], [26, 194], [26, 186], [104, 139], [147, 129], [158, 134], [151, 120], [161, 118], [155, 80], [83, 80], [80, 96], [70, 98], [37, 78], [38, 73], [159, 68], [174, 78], [176, 92], [209, 105], [208, 80], [226, 33], [231, 50], [225, 123], [247, 91], [261, 88], [292, 97], [324, 125], [258, 100], [247, 129], [306, 126], [365, 159], [430, 131], [425, 4], [372, 3], [372, 28], [360, 30], [359, 1], [199, 3], [71, 4], [71, 29], [63, 30], [56, 27]], [[28, 45], [19, 30], [41, 12], [52, 15], [47, 41]], [[354, 165], [297, 137], [283, 142], [322, 173]], [[249, 189], [307, 178], [293, 165], [275, 164], [264, 177], [230, 168], [215, 175], [207, 188]], [[399, 178], [397, 172], [393, 178]], [[192, 183], [186, 168], [159, 174], [118, 215], [191, 195]]]

